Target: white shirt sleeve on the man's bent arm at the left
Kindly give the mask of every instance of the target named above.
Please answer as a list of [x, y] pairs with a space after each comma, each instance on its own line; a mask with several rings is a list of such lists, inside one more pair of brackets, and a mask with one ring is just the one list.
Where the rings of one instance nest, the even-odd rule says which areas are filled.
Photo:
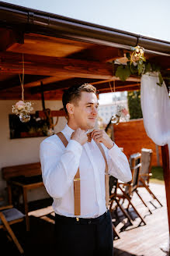
[[70, 140], [64, 150], [58, 144], [46, 140], [40, 144], [43, 183], [53, 198], [63, 197], [71, 187], [82, 155], [82, 145], [75, 140]]

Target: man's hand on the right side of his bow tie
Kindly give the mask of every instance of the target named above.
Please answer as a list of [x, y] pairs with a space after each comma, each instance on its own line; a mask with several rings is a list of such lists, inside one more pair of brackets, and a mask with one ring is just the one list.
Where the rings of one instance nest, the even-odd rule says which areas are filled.
[[95, 142], [97, 143], [102, 142], [102, 144], [104, 144], [106, 148], [113, 148], [114, 142], [110, 139], [105, 130], [93, 130], [92, 139], [95, 140]]

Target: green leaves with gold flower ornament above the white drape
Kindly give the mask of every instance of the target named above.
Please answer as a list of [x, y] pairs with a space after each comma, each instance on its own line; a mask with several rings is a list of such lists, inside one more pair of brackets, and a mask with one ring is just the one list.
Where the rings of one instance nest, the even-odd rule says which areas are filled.
[[[127, 52], [126, 54], [128, 59], [127, 63], [118, 65], [116, 68], [116, 73], [114, 75], [116, 77], [119, 77], [120, 80], [125, 81], [130, 75], [141, 76], [142, 74], [147, 72], [158, 72], [159, 83], [157, 84], [161, 86], [163, 84], [161, 67], [154, 63], [148, 62], [145, 59], [144, 48], [142, 48], [141, 46], [137, 45], [134, 48], [132, 47], [131, 50], [133, 51], [131, 55], [129, 52]], [[113, 66], [115, 65], [113, 64]]]

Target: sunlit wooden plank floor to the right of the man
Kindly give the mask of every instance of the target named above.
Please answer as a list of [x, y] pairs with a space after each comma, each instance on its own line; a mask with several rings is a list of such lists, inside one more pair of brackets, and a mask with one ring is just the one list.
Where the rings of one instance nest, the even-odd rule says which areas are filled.
[[[115, 255], [121, 256], [165, 256], [166, 253], [161, 251], [163, 244], [168, 244], [168, 215], [165, 201], [165, 186], [151, 183], [152, 192], [161, 201], [163, 207], [160, 207], [157, 201], [153, 200], [151, 195], [144, 188], [139, 188], [139, 192], [147, 202], [152, 214], [148, 212], [144, 204], [136, 194], [133, 196], [134, 205], [138, 212], [144, 217], [147, 225], [138, 226], [141, 222], [139, 218], [134, 220], [133, 226], [127, 226], [126, 231], [120, 232], [124, 226], [120, 222], [116, 226], [116, 231], [120, 232], [120, 239], [114, 240]], [[154, 205], [157, 207], [154, 208]], [[114, 220], [114, 219], [113, 219]], [[125, 219], [123, 219], [125, 221]]]

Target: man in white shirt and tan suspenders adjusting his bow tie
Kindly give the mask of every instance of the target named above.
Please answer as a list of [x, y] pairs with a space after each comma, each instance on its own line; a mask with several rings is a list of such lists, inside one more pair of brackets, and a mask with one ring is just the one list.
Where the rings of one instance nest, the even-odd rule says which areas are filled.
[[112, 256], [105, 172], [130, 181], [127, 157], [104, 130], [93, 130], [88, 142], [88, 130], [94, 129], [98, 114], [95, 87], [70, 87], [62, 101], [68, 123], [40, 145], [43, 183], [54, 198], [57, 250], [64, 256]]

